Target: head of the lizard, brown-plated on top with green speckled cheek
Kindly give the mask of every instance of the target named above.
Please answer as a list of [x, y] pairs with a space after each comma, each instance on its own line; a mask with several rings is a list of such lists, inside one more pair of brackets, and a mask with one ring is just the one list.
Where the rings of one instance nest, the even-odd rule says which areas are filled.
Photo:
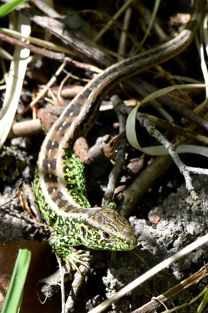
[[80, 239], [87, 248], [94, 250], [125, 251], [137, 245], [126, 219], [111, 208], [92, 208]]

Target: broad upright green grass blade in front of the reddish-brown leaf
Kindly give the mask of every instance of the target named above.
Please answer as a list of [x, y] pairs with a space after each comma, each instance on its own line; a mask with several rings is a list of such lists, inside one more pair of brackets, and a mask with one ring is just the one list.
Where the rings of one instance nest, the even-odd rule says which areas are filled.
[[22, 302], [23, 287], [30, 264], [30, 258], [31, 252], [29, 250], [19, 249], [1, 313], [18, 313]]

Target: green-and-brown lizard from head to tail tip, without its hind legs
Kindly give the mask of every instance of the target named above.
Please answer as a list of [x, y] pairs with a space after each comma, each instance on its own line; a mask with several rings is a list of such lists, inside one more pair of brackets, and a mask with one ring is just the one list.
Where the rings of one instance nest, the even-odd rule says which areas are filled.
[[73, 145], [97, 120], [102, 99], [113, 85], [171, 59], [191, 42], [199, 25], [200, 1], [186, 29], [159, 47], [113, 64], [94, 77], [70, 102], [47, 133], [37, 161], [34, 191], [37, 203], [57, 234], [49, 239], [52, 249], [77, 271], [86, 253], [70, 247], [84, 245], [90, 249], [127, 251], [137, 239], [128, 222], [113, 208], [92, 208], [87, 200], [84, 165], [74, 154]]

